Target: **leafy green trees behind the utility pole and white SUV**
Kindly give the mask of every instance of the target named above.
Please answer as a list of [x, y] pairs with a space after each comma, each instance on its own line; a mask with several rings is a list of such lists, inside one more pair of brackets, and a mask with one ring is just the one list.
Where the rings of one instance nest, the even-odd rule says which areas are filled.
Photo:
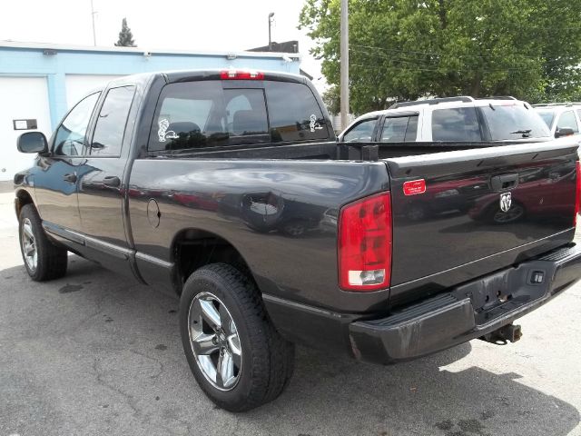
[[[351, 111], [429, 95], [581, 97], [579, 16], [571, 0], [350, 0]], [[300, 27], [339, 85], [340, 0], [306, 0]]]

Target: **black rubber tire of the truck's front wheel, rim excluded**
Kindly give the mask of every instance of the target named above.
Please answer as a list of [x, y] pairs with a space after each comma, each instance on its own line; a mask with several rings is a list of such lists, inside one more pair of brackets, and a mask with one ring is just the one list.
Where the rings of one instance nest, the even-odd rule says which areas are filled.
[[[25, 204], [23, 206], [20, 210], [18, 222], [20, 253], [22, 253], [26, 272], [28, 272], [30, 278], [34, 282], [45, 282], [63, 277], [66, 273], [68, 253], [64, 248], [54, 245], [46, 237], [40, 216], [38, 216], [33, 204]], [[26, 232], [32, 231], [33, 234], [34, 250], [36, 253], [35, 266], [34, 263], [27, 261], [27, 256], [25, 255], [25, 239], [27, 239], [25, 223]]]

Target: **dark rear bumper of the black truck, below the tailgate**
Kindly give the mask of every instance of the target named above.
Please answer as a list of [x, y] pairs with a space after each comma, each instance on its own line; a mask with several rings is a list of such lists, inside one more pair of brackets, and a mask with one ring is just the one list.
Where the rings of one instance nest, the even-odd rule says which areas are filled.
[[534, 311], [579, 278], [581, 247], [570, 244], [386, 318], [351, 322], [351, 350], [359, 360], [384, 364], [445, 350]]

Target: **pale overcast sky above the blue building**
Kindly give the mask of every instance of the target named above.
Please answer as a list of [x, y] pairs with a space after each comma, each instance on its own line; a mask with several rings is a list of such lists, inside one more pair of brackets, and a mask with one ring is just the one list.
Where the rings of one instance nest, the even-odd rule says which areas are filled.
[[[320, 63], [297, 29], [302, 0], [93, 0], [97, 45], [111, 46], [121, 21], [127, 22], [143, 50], [240, 51], [268, 45], [268, 15], [274, 12], [272, 41], [299, 40], [301, 67], [319, 88]], [[2, 2], [0, 40], [93, 45], [91, 0]], [[1, 66], [0, 66], [1, 69]]]

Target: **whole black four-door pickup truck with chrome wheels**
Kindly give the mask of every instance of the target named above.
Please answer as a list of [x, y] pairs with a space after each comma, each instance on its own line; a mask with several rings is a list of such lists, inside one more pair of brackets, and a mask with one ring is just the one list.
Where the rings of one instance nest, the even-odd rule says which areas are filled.
[[[295, 342], [392, 363], [517, 340], [581, 275], [576, 144], [396, 145], [337, 144], [300, 76], [116, 79], [19, 138], [25, 268], [61, 277], [72, 252], [172, 290], [230, 411], [281, 393]], [[421, 203], [444, 206], [409, 219]]]

